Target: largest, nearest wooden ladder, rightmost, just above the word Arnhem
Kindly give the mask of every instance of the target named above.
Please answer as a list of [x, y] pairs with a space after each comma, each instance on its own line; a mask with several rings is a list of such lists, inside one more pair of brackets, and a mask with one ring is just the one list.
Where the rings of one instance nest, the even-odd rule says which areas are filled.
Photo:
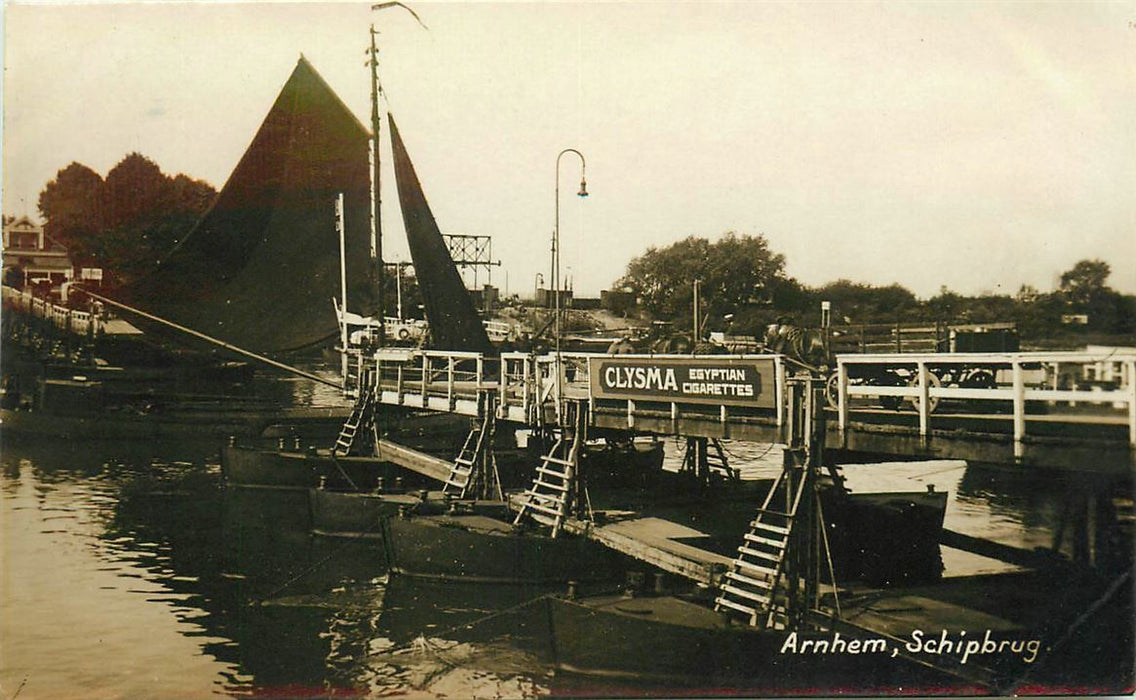
[[[790, 465], [777, 476], [719, 585], [715, 610], [740, 614], [752, 626], [787, 624], [788, 592], [783, 590], [782, 580], [805, 484], [802, 469]], [[784, 497], [787, 510], [772, 508], [778, 494]]]

